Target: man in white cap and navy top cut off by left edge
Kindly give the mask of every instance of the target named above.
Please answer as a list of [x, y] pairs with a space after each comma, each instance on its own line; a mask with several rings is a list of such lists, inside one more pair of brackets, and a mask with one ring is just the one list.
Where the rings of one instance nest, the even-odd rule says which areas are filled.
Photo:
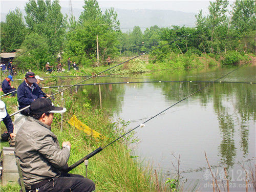
[[0, 100], [0, 119], [3, 119], [3, 122], [5, 123], [6, 129], [8, 131], [2, 134], [2, 139], [8, 141], [9, 137], [15, 137], [15, 134], [13, 133], [12, 119], [7, 113], [5, 103], [2, 100]]

